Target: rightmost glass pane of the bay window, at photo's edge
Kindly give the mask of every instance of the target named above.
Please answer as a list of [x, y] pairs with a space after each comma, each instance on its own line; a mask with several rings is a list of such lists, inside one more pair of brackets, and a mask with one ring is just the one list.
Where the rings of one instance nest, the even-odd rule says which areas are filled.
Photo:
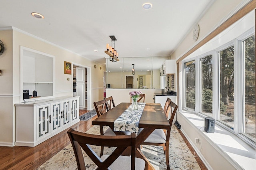
[[242, 43], [244, 55], [244, 112], [242, 133], [255, 141], [255, 38]]

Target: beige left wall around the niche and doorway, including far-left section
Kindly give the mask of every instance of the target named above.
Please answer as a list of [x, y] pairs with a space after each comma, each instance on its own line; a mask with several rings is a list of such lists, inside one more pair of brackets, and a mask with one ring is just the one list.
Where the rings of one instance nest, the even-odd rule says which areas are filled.
[[[75, 53], [16, 30], [0, 31], [0, 40], [6, 50], [0, 56], [0, 146], [13, 146], [15, 142], [15, 103], [20, 103], [20, 46], [55, 56], [55, 96], [72, 96], [72, 75], [64, 74], [64, 61], [91, 67], [91, 99], [103, 99], [103, 71], [100, 65]], [[94, 69], [94, 64], [97, 68]], [[102, 69], [100, 69], [102, 67]], [[91, 102], [93, 107], [93, 102]]]

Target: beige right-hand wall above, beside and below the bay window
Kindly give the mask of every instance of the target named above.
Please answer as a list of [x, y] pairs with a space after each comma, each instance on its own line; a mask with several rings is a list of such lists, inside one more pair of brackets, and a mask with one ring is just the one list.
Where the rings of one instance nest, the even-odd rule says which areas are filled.
[[[214, 29], [217, 28], [220, 24], [222, 24], [225, 20], [228, 19], [231, 14], [237, 12], [240, 8], [242, 8], [243, 0], [216, 0], [214, 4], [207, 10], [206, 14], [201, 18], [198, 22], [200, 26], [200, 33], [198, 40], [196, 42], [192, 39], [193, 30], [184, 38], [184, 40], [180, 43], [180, 45], [176, 48], [174, 53], [172, 53], [172, 59], [179, 59], [188, 52], [192, 47], [194, 47], [200, 40], [205, 38], [208, 34], [210, 34]], [[247, 1], [248, 2], [248, 1]], [[182, 109], [182, 64], [179, 64], [180, 70], [179, 72], [179, 93], [178, 93], [178, 105], [179, 110]], [[177, 78], [176, 78], [177, 79]], [[200, 136], [201, 143], [203, 144], [203, 148], [201, 150], [200, 146], [195, 143], [195, 138], [199, 138], [198, 135], [198, 127], [192, 125], [190, 121], [180, 113], [177, 113], [178, 122], [181, 125], [182, 132], [186, 135], [192, 146], [200, 150], [200, 158], [204, 161], [207, 168], [209, 169], [236, 169], [235, 165], [230, 163], [230, 160], [227, 158], [225, 154], [219, 152], [216, 147], [213, 146], [209, 140]]]

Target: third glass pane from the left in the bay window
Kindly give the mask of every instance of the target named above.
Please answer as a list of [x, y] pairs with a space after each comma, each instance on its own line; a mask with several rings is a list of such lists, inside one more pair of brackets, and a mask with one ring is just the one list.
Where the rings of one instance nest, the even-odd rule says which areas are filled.
[[219, 55], [219, 113], [218, 119], [234, 129], [234, 46]]

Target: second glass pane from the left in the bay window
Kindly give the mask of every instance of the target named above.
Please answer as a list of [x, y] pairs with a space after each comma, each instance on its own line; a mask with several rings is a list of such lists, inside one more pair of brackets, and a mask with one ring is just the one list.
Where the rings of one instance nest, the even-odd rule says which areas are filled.
[[200, 59], [201, 113], [212, 117], [212, 55]]

